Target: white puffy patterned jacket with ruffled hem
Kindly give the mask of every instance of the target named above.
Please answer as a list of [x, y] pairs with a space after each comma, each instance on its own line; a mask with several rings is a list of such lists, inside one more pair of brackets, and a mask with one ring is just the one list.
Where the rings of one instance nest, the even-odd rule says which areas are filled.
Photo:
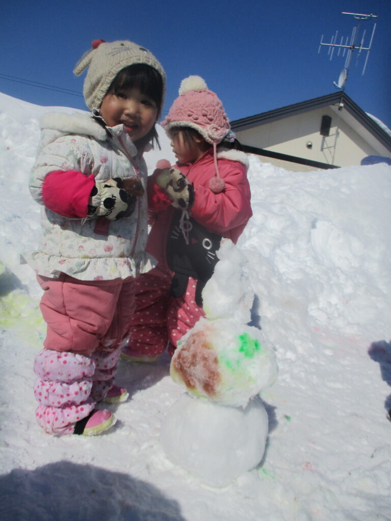
[[[76, 170], [97, 181], [138, 177], [146, 188], [146, 165], [123, 125], [106, 130], [88, 114], [45, 114], [41, 142], [30, 177], [35, 201], [44, 204], [48, 173]], [[61, 194], [58, 194], [61, 197]], [[148, 234], [146, 196], [129, 217], [108, 221], [108, 234], [95, 233], [97, 217], [72, 219], [43, 207], [39, 249], [24, 254], [34, 270], [56, 278], [60, 272], [81, 280], [127, 278], [148, 271], [154, 259], [145, 252]], [[106, 219], [107, 220], [107, 219]]]

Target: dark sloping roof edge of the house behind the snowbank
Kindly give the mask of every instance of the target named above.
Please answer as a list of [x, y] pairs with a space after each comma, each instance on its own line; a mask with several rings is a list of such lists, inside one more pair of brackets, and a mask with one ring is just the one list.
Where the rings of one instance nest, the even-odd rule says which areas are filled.
[[[345, 93], [336, 91], [332, 94], [326, 94], [313, 98], [312, 100], [295, 103], [286, 107], [269, 110], [261, 114], [255, 114], [247, 118], [231, 121], [231, 128], [238, 132], [252, 127], [265, 125], [278, 119], [288, 118], [297, 114], [305, 113], [313, 109], [330, 106], [336, 112], [340, 111], [340, 116], [360, 135], [365, 133], [372, 135], [378, 142], [391, 152], [391, 136], [377, 125], [376, 121], [366, 114], [353, 100]], [[360, 128], [361, 127], [361, 128]], [[367, 134], [368, 136], [368, 134]]]

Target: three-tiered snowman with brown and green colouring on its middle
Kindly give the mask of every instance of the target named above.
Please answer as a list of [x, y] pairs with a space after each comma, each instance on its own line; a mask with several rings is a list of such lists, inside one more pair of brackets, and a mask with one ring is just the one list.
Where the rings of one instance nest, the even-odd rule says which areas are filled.
[[225, 487], [263, 457], [268, 418], [259, 393], [277, 378], [274, 349], [249, 326], [254, 294], [247, 259], [223, 239], [203, 291], [206, 317], [178, 343], [170, 375], [186, 389], [167, 413], [169, 460], [206, 485]]

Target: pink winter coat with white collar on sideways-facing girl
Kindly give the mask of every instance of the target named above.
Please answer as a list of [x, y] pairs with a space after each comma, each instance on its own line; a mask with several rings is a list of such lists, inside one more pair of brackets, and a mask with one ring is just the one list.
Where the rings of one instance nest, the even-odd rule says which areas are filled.
[[[216, 175], [212, 148], [194, 164], [177, 164], [176, 167], [194, 185], [195, 200], [190, 216], [207, 230], [236, 243], [252, 216], [251, 192], [247, 179], [248, 157], [237, 150], [223, 149], [217, 153], [217, 160], [220, 177], [225, 182], [224, 192], [218, 194], [213, 193], [209, 188], [210, 180]], [[152, 201], [152, 183], [153, 178], [149, 178], [149, 209], [153, 224], [146, 251], [166, 264], [167, 233], [174, 208], [167, 202], [167, 207], [159, 211], [162, 204], [156, 206]]]

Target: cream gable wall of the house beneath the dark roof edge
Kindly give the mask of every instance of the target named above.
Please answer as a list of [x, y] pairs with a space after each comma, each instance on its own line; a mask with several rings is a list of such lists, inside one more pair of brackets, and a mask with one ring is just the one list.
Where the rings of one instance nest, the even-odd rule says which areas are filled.
[[[332, 118], [328, 137], [320, 134], [322, 116]], [[236, 134], [243, 145], [330, 165], [360, 165], [365, 156], [382, 155], [382, 151], [375, 150], [347, 125], [342, 116], [324, 107], [237, 131]], [[339, 133], [336, 137], [337, 126]], [[308, 142], [312, 143], [312, 148], [308, 148]]]

